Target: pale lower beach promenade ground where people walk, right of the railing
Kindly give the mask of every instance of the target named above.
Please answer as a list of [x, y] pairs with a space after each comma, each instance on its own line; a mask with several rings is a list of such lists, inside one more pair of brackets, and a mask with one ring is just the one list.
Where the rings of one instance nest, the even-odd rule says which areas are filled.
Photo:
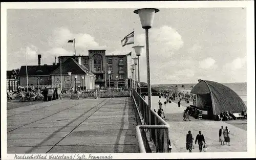
[[[158, 110], [158, 100], [162, 103], [164, 99], [159, 99], [156, 96], [152, 97], [152, 108]], [[146, 98], [147, 102], [147, 98]], [[205, 137], [207, 152], [246, 152], [247, 151], [247, 127], [237, 127], [236, 124], [243, 124], [247, 126], [247, 121], [211, 121], [211, 120], [198, 120], [190, 117], [189, 121], [183, 121], [183, 111], [189, 104], [182, 103], [181, 107], [175, 102], [163, 104], [165, 121], [170, 125], [169, 139], [172, 143], [172, 152], [188, 152], [185, 148], [186, 134], [188, 130], [196, 139], [198, 131], [201, 130]], [[232, 125], [234, 124], [234, 125]], [[230, 146], [221, 146], [219, 143], [219, 129], [221, 126], [227, 126], [230, 129]], [[195, 141], [194, 141], [195, 142]], [[194, 143], [195, 145], [195, 143]], [[192, 152], [199, 152], [198, 144]]]

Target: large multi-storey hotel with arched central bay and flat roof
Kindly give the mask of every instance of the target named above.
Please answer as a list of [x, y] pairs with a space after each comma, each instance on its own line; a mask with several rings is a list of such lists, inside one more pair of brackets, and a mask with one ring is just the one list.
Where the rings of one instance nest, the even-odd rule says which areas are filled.
[[[100, 87], [125, 88], [127, 83], [126, 55], [105, 55], [105, 50], [89, 50], [88, 56], [60, 56], [58, 60], [66, 61], [70, 57], [84, 65], [95, 75], [95, 84]], [[111, 74], [108, 74], [111, 71]], [[110, 77], [110, 83], [109, 83]], [[117, 78], [116, 78], [117, 77]]]

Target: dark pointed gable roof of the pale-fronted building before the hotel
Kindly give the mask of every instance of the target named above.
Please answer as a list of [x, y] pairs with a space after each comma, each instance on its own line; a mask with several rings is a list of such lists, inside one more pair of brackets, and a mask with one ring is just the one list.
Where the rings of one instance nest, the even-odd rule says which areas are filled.
[[[72, 75], [81, 75], [88, 74], [95, 76], [91, 73], [88, 68], [84, 65], [78, 64], [78, 62], [73, 58], [68, 58], [65, 62], [61, 63], [61, 74], [67, 75], [68, 72], [72, 72]], [[51, 75], [59, 75], [60, 74], [60, 65], [51, 73]]]

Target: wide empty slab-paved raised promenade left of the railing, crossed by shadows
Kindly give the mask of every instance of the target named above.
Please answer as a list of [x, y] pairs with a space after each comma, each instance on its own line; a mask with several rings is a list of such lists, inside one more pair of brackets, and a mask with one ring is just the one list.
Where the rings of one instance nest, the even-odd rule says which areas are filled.
[[135, 126], [131, 98], [22, 106], [7, 110], [7, 152], [137, 152]]

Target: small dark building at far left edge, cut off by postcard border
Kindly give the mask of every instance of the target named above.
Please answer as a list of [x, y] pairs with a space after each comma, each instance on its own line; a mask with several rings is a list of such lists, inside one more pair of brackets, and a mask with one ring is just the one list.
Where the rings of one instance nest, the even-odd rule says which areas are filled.
[[19, 69], [17, 70], [13, 69], [12, 71], [7, 71], [7, 75], [6, 75], [7, 91], [15, 92], [18, 90], [18, 85], [19, 85], [19, 79], [17, 76], [18, 73], [19, 73]]

